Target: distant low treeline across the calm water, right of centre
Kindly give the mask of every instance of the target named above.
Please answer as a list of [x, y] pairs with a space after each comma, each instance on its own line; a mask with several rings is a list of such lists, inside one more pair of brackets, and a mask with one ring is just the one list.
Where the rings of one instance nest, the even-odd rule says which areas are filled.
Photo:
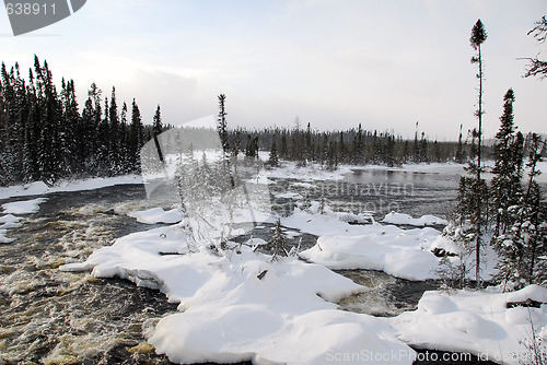
[[[300, 128], [268, 128], [261, 130], [229, 130], [229, 145], [233, 152], [256, 156], [258, 150], [276, 150], [274, 160], [317, 162], [336, 168], [338, 164], [384, 164], [457, 162], [465, 163], [475, 154], [476, 137], [473, 132], [459, 136], [458, 141], [429, 140], [418, 131], [415, 138], [404, 139], [387, 131], [358, 128], [345, 131], [317, 131], [309, 123]], [[529, 136], [525, 137], [525, 145]], [[526, 148], [527, 149], [527, 148]], [[491, 146], [482, 146], [485, 158], [491, 158]], [[545, 151], [544, 151], [545, 154]]]

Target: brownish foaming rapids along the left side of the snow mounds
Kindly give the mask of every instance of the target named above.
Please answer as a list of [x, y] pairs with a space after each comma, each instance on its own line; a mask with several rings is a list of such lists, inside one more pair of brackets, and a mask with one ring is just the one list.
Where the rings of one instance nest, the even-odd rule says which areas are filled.
[[16, 240], [0, 246], [0, 364], [171, 364], [143, 337], [176, 311], [162, 293], [58, 269], [150, 228], [125, 214], [149, 204], [143, 187], [47, 198], [39, 213], [8, 232]]

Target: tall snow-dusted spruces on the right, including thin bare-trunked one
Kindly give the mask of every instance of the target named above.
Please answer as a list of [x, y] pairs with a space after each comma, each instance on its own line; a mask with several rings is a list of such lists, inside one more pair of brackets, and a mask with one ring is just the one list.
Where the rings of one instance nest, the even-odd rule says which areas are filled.
[[[539, 40], [547, 34], [547, 19], [536, 22], [534, 34]], [[509, 89], [503, 96], [500, 129], [491, 151], [491, 180], [484, 175], [482, 148], [482, 54], [488, 35], [480, 20], [474, 25], [470, 45], [476, 51], [472, 63], [478, 66], [477, 128], [473, 130], [473, 149], [466, 167], [468, 175], [459, 180], [457, 205], [444, 234], [462, 248], [459, 262], [446, 257], [440, 272], [449, 286], [469, 286], [468, 273], [475, 271], [475, 285], [482, 286], [484, 254], [490, 245], [499, 257], [494, 282], [504, 290], [528, 284], [547, 283], [547, 201], [537, 182], [542, 174], [538, 162], [545, 154], [546, 142], [536, 133], [524, 138], [514, 122], [515, 93]], [[532, 60], [532, 59], [531, 59]], [[538, 66], [543, 64], [543, 69]], [[546, 62], [535, 59], [525, 76], [545, 78]], [[543, 70], [543, 71], [542, 71]], [[476, 145], [476, 146], [475, 146]], [[527, 157], [527, 158], [526, 158]], [[527, 172], [525, 169], [527, 168]]]

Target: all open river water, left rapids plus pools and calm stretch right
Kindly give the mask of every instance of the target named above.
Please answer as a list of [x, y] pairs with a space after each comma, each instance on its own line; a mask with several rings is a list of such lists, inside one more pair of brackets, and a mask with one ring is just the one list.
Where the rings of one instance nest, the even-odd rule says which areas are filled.
[[[400, 210], [420, 216], [442, 215], [455, 198], [457, 181], [455, 175], [365, 170], [338, 182], [315, 181], [312, 188], [277, 180], [274, 190], [324, 197], [356, 213], [374, 210], [382, 216]], [[170, 208], [176, 199], [163, 191], [147, 200], [140, 185], [51, 193], [47, 199], [38, 213], [24, 215], [22, 226], [8, 232], [15, 242], [0, 245], [0, 364], [171, 364], [154, 353], [146, 335], [160, 318], [176, 311], [175, 304], [158, 291], [124, 280], [98, 280], [58, 268], [84, 260], [117, 237], [151, 228], [128, 217], [128, 212]], [[290, 210], [294, 205], [292, 200], [284, 204]], [[282, 205], [277, 207], [287, 208]], [[267, 239], [270, 227], [263, 225], [253, 235]], [[294, 229], [291, 237], [302, 247], [316, 239]], [[340, 302], [341, 308], [375, 316], [412, 309], [423, 291], [434, 289], [434, 282], [409, 282], [375, 271], [339, 273], [369, 287]]]

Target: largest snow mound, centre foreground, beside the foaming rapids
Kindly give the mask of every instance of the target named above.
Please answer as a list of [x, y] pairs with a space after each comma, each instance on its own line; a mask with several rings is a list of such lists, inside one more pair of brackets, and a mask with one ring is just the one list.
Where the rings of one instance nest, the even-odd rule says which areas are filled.
[[181, 303], [149, 339], [173, 362], [327, 364], [379, 352], [392, 354], [386, 364], [414, 358], [391, 325], [331, 303], [363, 290], [351, 280], [295, 258], [270, 262], [246, 245], [223, 257], [198, 250], [181, 225], [125, 236], [61, 267], [91, 269], [159, 287]]

